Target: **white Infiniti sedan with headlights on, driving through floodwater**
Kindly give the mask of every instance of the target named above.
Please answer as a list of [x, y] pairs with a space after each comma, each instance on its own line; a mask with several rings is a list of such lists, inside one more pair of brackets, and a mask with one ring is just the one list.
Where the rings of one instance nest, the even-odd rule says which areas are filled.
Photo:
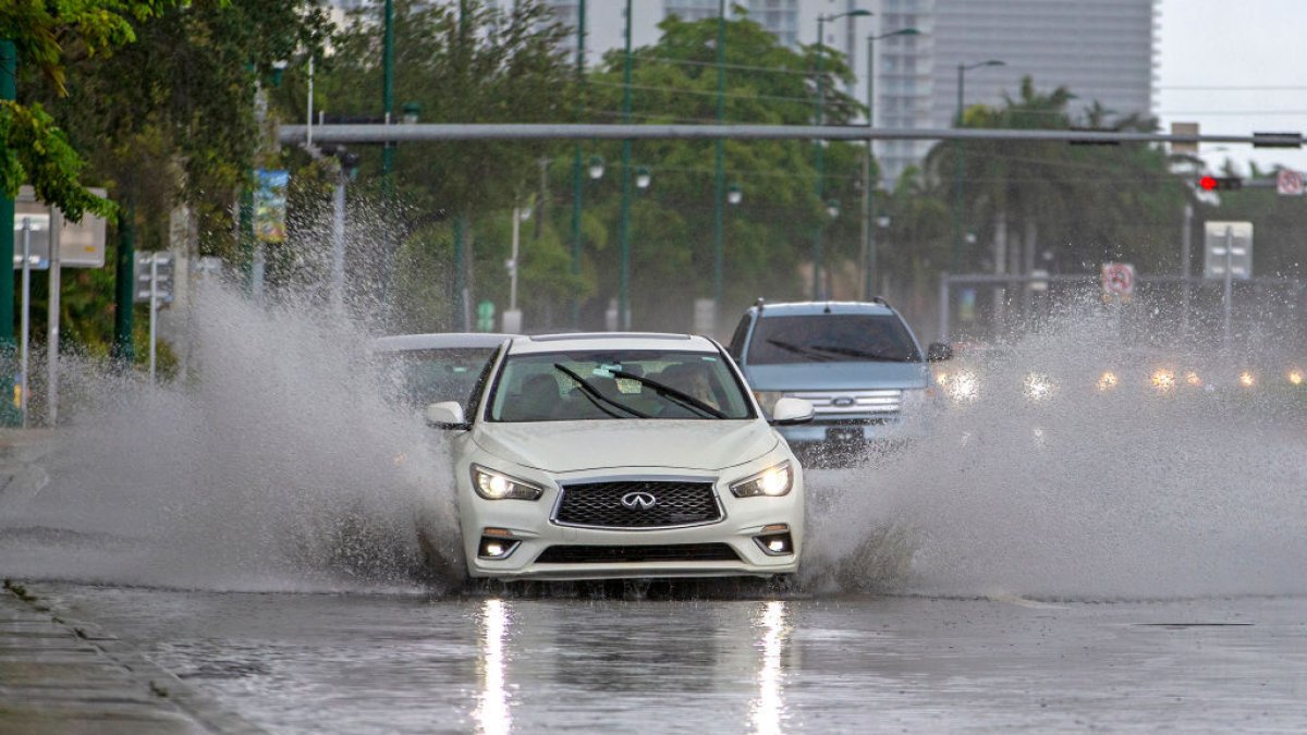
[[[451, 396], [452, 398], [452, 396]], [[740, 370], [698, 336], [515, 337], [451, 432], [471, 577], [613, 579], [792, 574], [802, 470]]]

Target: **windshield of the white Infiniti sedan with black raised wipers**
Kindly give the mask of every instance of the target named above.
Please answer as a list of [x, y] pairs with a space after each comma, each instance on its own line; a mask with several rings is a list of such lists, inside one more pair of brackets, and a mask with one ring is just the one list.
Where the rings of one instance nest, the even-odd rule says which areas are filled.
[[753, 419], [720, 354], [586, 350], [510, 354], [490, 421]]

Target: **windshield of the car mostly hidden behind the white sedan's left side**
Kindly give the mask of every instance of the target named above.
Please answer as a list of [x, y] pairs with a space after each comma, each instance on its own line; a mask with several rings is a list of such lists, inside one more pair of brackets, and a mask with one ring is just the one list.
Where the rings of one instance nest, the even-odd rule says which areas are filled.
[[498, 348], [405, 349], [378, 356], [387, 398], [412, 408], [456, 400], [468, 409], [477, 378]]

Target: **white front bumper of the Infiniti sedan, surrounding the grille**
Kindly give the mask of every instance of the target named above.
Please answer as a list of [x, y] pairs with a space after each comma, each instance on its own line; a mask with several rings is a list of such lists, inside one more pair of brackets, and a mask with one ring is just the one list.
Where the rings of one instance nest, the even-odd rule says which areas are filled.
[[[797, 468], [797, 463], [795, 463]], [[507, 471], [507, 470], [506, 470]], [[735, 497], [728, 484], [748, 475], [731, 472], [721, 477], [714, 473], [686, 472], [669, 468], [608, 468], [601, 471], [569, 472], [545, 475], [538, 471], [512, 468], [523, 479], [545, 483], [545, 493], [540, 500], [485, 500], [472, 492], [467, 466], [459, 472], [459, 521], [463, 530], [464, 553], [468, 560], [468, 574], [473, 578], [495, 579], [621, 579], [621, 578], [678, 578], [678, 577], [767, 577], [797, 572], [802, 553], [804, 536], [804, 488], [802, 472], [795, 472], [793, 487], [782, 497]], [[570, 483], [595, 483], [617, 476], [635, 479], [642, 476], [677, 476], [695, 481], [712, 481], [714, 492], [721, 506], [721, 519], [681, 528], [584, 528], [563, 526], [552, 519], [559, 498], [559, 487]], [[789, 538], [789, 553], [771, 556], [763, 551], [755, 539], [779, 534], [775, 526], [784, 524]], [[767, 528], [772, 527], [771, 531]], [[497, 531], [495, 539], [512, 544], [511, 553], [498, 558], [482, 558], [482, 539], [486, 530]], [[502, 531], [502, 532], [501, 532]], [[603, 556], [642, 556], [646, 549], [665, 549], [672, 547], [677, 553], [647, 556], [677, 556], [690, 549], [690, 544], [702, 548], [703, 544], [724, 544], [729, 547], [725, 555], [735, 558], [657, 558], [654, 561], [541, 561], [541, 556], [552, 547], [569, 547], [565, 552], [608, 549], [614, 553]], [[614, 547], [630, 547], [616, 549]], [[716, 547], [720, 548], [720, 547]], [[623, 552], [634, 552], [627, 555]], [[559, 549], [550, 552], [559, 556]], [[566, 556], [563, 553], [562, 556]]]

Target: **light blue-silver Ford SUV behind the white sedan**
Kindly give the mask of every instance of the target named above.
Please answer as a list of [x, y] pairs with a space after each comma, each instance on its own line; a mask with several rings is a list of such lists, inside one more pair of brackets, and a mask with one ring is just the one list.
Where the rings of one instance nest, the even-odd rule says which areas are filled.
[[948, 344], [925, 353], [884, 299], [758, 303], [731, 337], [729, 352], [763, 411], [780, 398], [812, 402], [812, 422], [780, 433], [795, 451], [860, 450], [920, 436], [931, 400], [927, 362], [949, 360]]

